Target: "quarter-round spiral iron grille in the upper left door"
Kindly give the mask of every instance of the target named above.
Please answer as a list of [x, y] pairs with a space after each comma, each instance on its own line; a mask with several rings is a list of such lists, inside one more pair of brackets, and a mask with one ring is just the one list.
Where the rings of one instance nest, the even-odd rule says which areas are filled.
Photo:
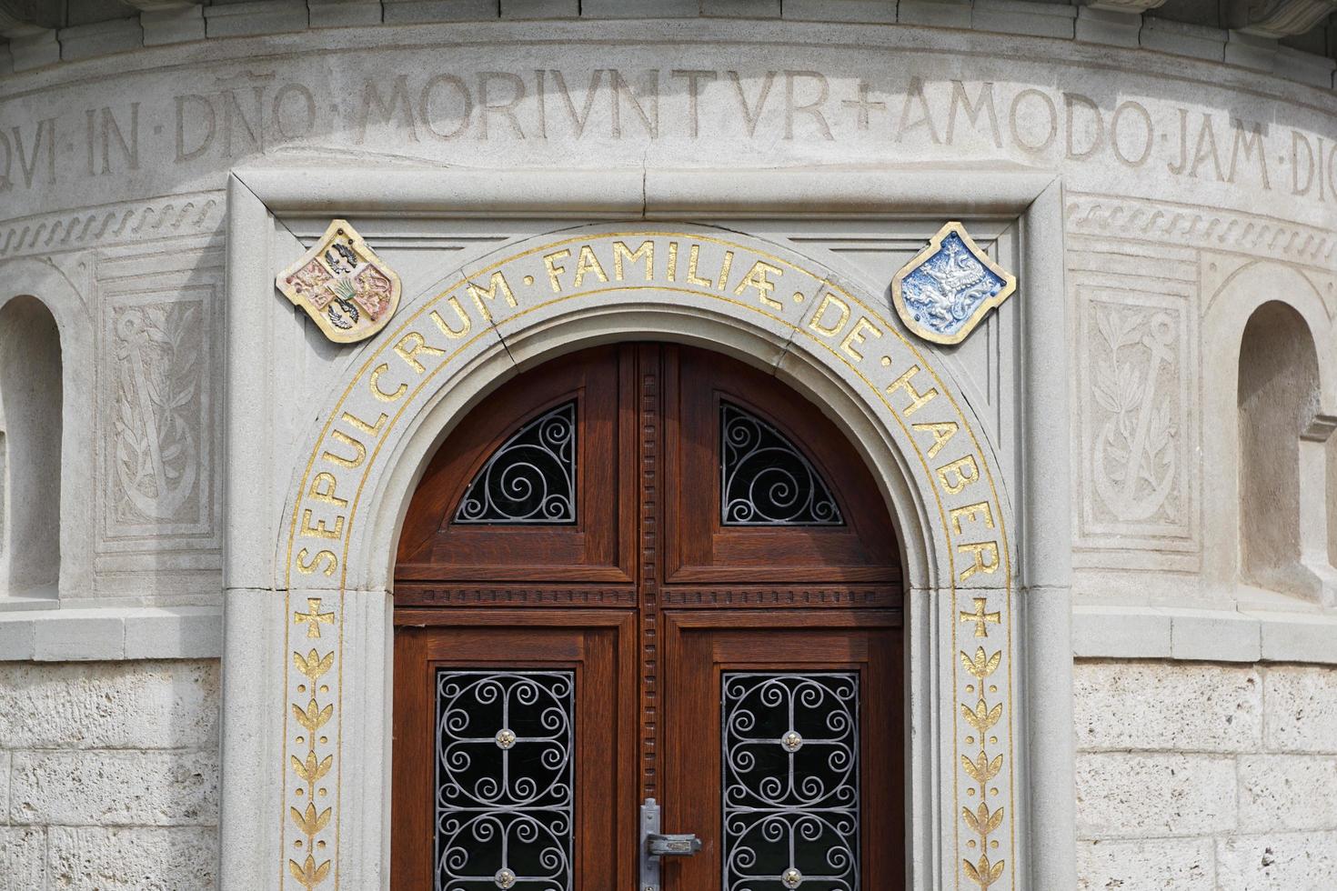
[[503, 442], [465, 489], [455, 522], [576, 521], [576, 403], [540, 414]]

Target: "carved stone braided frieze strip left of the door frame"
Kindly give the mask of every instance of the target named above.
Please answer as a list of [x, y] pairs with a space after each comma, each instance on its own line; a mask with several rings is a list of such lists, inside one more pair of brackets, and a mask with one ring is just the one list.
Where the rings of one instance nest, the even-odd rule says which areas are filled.
[[195, 235], [218, 228], [223, 200], [217, 192], [170, 195], [0, 223], [0, 258]]

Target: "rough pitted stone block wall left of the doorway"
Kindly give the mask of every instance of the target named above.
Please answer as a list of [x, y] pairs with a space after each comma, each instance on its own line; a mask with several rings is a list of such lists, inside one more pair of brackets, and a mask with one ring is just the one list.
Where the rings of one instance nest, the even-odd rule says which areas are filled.
[[209, 891], [217, 661], [0, 663], [0, 891]]

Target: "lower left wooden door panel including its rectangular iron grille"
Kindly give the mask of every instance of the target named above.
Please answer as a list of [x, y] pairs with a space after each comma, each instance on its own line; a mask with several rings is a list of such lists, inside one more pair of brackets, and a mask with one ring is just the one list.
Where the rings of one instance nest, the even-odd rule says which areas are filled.
[[392, 887], [632, 887], [634, 614], [397, 624]]

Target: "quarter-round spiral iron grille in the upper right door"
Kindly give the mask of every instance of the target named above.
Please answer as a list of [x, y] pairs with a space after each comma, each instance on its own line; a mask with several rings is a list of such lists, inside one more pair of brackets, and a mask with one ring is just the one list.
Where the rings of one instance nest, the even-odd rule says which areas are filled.
[[719, 521], [726, 526], [841, 526], [836, 497], [779, 430], [727, 402], [719, 406]]

